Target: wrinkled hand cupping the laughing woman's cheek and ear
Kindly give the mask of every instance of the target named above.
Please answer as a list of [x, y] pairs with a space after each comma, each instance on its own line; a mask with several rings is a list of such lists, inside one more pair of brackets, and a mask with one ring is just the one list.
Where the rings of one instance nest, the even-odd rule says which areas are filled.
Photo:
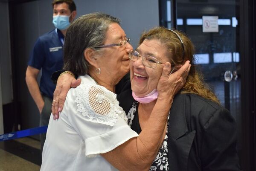
[[186, 61], [179, 70], [171, 75], [169, 74], [171, 72], [171, 64], [169, 62], [165, 63], [162, 75], [157, 84], [158, 99], [172, 101], [175, 94], [186, 82], [186, 77], [188, 76], [191, 67], [191, 64], [189, 63], [190, 61]]

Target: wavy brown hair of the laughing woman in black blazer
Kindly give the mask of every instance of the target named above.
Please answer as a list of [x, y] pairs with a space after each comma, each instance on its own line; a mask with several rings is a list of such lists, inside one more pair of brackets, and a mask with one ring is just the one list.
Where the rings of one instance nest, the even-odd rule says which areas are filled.
[[183, 32], [177, 30], [175, 30], [175, 32], [183, 41], [184, 52], [181, 40], [178, 38], [178, 36], [174, 32], [164, 27], [155, 27], [150, 29], [148, 32], [144, 32], [140, 37], [139, 44], [141, 44], [145, 39], [154, 39], [160, 41], [163, 46], [166, 47], [166, 51], [168, 53], [166, 55], [174, 62], [175, 65], [183, 64], [185, 61], [189, 60], [192, 66], [181, 93], [197, 94], [198, 96], [202, 96], [205, 99], [209, 99], [220, 104], [217, 96], [204, 82], [203, 75], [195, 68], [195, 48], [193, 43]]

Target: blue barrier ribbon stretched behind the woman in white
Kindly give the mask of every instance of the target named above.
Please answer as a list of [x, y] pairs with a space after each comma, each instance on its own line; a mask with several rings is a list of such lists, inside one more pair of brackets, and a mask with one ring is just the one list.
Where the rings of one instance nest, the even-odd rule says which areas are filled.
[[3, 135], [0, 135], [0, 142], [6, 141], [9, 139], [18, 139], [25, 136], [32, 136], [32, 135], [36, 135], [39, 133], [46, 133], [46, 132], [47, 132], [47, 126], [36, 127], [36, 128], [27, 129], [27, 130], [20, 130], [12, 133], [5, 133]]

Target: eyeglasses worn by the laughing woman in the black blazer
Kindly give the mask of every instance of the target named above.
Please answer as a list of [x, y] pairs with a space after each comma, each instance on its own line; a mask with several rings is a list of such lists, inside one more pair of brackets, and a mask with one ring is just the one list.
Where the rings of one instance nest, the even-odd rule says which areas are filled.
[[131, 50], [129, 52], [129, 58], [131, 59], [131, 61], [136, 62], [140, 57], [142, 57], [142, 64], [149, 68], [155, 68], [157, 67], [157, 64], [163, 64], [162, 62], [157, 61], [157, 59], [153, 56], [140, 55], [140, 53], [136, 50]]

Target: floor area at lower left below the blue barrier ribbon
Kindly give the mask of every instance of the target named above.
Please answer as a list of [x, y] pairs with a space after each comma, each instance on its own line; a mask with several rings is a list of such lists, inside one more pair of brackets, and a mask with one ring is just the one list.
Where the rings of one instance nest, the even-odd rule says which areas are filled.
[[0, 142], [0, 171], [39, 171], [40, 141], [29, 137]]

